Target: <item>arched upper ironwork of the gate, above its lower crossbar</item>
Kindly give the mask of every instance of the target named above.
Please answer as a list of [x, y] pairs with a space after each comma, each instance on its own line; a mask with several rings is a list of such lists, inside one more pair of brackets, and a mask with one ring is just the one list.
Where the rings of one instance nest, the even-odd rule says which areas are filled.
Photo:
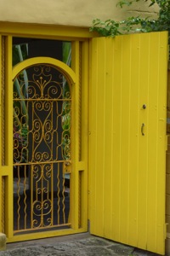
[[71, 90], [54, 67], [32, 69], [14, 79], [14, 163], [70, 160]]

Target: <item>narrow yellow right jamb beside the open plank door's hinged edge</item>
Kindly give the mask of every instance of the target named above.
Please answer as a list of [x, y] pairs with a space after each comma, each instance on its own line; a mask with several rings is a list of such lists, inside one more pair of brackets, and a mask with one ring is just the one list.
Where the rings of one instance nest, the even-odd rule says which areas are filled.
[[[81, 90], [81, 161], [83, 166], [78, 166], [79, 170], [84, 170], [79, 175], [80, 186], [80, 224], [88, 230], [88, 42], [82, 42], [82, 90]], [[80, 162], [79, 162], [80, 163]]]

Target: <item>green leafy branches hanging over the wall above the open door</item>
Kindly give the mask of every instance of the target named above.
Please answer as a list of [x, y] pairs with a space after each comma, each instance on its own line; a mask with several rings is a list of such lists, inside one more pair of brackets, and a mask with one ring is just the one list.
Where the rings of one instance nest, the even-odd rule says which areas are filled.
[[[117, 3], [118, 7], [125, 5], [130, 6], [140, 0], [122, 0]], [[143, 0], [149, 2], [149, 7], [157, 4], [159, 6], [159, 13], [157, 19], [141, 18], [141, 17], [128, 17], [125, 20], [93, 20], [93, 26], [90, 31], [98, 32], [103, 37], [115, 37], [116, 35], [129, 33], [129, 32], [170, 32], [170, 1], [169, 0]]]

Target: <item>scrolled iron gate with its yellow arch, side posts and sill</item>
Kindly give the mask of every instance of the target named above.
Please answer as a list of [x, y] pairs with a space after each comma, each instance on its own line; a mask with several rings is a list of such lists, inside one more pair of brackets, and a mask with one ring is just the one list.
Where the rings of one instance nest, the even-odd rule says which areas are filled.
[[5, 34], [0, 35], [0, 231], [7, 242], [85, 232], [88, 40], [71, 41], [71, 67], [49, 56], [16, 64], [14, 38]]

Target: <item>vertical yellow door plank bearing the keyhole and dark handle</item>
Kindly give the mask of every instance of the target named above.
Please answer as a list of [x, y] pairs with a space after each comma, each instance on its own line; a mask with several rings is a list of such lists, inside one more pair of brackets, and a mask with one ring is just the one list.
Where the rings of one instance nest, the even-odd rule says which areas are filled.
[[[148, 175], [148, 76], [149, 76], [148, 35], [140, 35], [139, 43], [139, 179], [138, 179], [138, 247], [147, 246], [147, 175]], [[143, 108], [143, 106], [146, 108]], [[142, 125], [144, 124], [144, 135]]]

